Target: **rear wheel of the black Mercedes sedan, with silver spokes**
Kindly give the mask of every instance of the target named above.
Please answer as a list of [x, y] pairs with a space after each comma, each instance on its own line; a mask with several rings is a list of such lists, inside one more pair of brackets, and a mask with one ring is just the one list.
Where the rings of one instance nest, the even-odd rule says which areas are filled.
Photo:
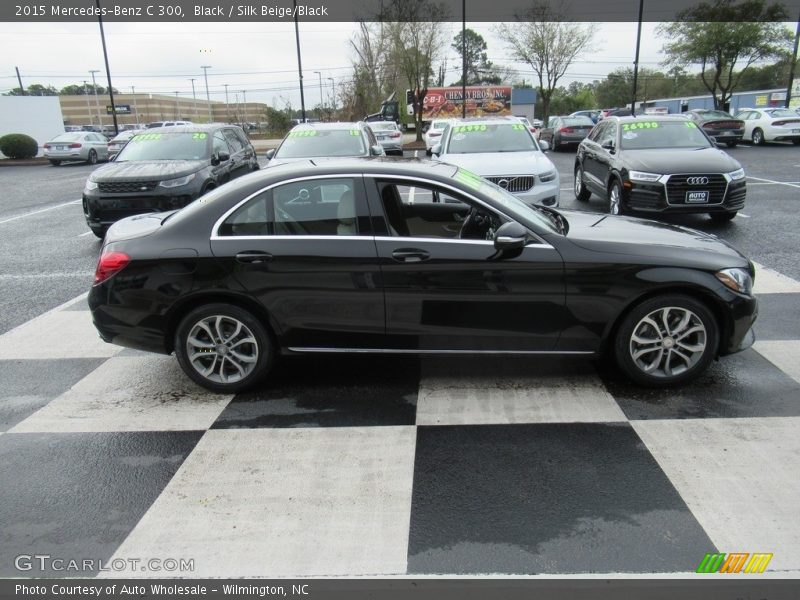
[[[174, 343], [183, 372], [198, 385], [222, 394], [254, 386], [266, 377], [274, 361], [274, 345], [266, 327], [233, 304], [207, 304], [192, 310], [178, 325]], [[192, 352], [190, 344], [198, 351]]]

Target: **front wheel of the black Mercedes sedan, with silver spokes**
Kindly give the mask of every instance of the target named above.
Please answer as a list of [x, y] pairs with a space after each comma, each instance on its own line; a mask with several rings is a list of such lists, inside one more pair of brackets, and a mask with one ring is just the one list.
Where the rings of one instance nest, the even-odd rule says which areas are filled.
[[[680, 337], [680, 332], [685, 332], [685, 337]], [[705, 371], [718, 345], [719, 326], [706, 305], [669, 294], [645, 300], [628, 312], [617, 330], [614, 357], [622, 372], [636, 383], [668, 387], [691, 381]]]

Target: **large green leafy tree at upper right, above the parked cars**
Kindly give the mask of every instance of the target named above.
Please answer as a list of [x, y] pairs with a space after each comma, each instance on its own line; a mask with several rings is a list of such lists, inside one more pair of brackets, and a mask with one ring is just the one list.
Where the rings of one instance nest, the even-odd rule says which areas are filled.
[[[667, 38], [665, 64], [700, 66], [700, 79], [721, 109], [753, 63], [786, 56], [792, 32], [780, 4], [765, 0], [713, 0], [678, 13], [678, 20], [659, 26]], [[738, 71], [737, 71], [738, 68]]]

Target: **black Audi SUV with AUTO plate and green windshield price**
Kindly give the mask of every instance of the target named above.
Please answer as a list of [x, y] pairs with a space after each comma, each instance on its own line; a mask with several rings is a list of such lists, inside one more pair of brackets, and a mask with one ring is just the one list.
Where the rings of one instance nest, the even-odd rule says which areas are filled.
[[575, 197], [607, 199], [608, 212], [708, 213], [729, 221], [744, 207], [742, 165], [685, 117], [607, 117], [578, 147]]

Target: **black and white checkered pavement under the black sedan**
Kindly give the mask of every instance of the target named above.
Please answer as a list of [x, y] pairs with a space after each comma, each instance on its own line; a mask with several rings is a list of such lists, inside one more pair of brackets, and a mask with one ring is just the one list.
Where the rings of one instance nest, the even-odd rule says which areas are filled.
[[758, 270], [756, 345], [666, 391], [576, 359], [343, 356], [212, 394], [100, 341], [77, 298], [0, 336], [0, 576], [65, 574], [19, 554], [281, 577], [772, 552], [800, 572], [800, 283]]

